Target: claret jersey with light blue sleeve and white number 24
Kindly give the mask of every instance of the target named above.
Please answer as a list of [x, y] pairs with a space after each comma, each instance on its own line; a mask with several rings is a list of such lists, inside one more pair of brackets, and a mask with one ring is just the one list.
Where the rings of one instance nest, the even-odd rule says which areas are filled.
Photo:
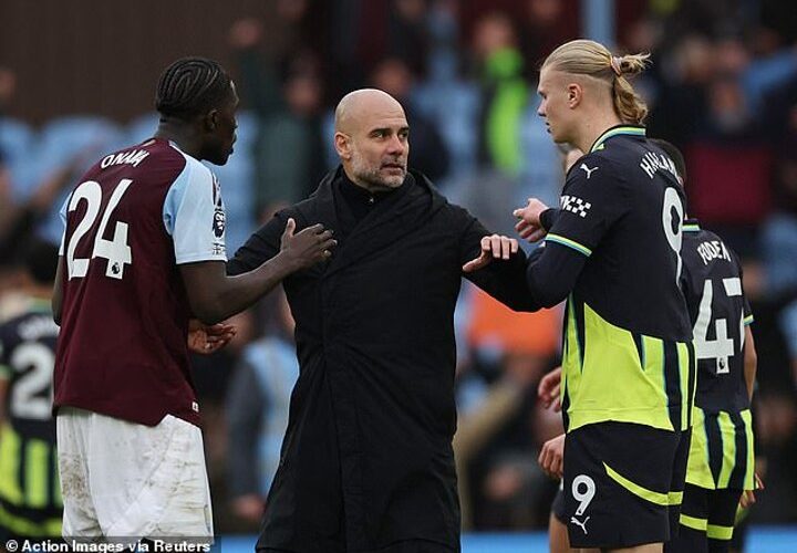
[[54, 408], [148, 426], [169, 414], [198, 424], [178, 265], [226, 261], [216, 178], [154, 138], [97, 161], [62, 218]]

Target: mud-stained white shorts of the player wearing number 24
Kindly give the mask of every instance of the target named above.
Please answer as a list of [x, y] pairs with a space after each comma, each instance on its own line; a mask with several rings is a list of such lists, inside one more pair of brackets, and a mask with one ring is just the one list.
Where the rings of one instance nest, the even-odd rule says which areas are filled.
[[199, 428], [172, 415], [149, 427], [61, 408], [56, 430], [64, 538], [211, 543]]

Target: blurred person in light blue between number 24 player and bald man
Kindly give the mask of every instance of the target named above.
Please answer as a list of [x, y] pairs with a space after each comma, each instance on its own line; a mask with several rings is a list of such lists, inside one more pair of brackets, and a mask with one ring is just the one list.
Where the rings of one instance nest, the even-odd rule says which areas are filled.
[[299, 377], [296, 323], [282, 290], [267, 300], [266, 334], [248, 344], [227, 396], [228, 482], [235, 514], [262, 519], [280, 462], [291, 389]]

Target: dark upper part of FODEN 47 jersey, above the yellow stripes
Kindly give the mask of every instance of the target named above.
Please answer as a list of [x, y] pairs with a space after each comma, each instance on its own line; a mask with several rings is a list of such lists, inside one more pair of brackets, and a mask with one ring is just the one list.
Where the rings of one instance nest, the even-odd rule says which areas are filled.
[[695, 405], [706, 411], [749, 408], [744, 378], [745, 326], [753, 322], [736, 254], [695, 220], [683, 232], [683, 291], [697, 357]]

